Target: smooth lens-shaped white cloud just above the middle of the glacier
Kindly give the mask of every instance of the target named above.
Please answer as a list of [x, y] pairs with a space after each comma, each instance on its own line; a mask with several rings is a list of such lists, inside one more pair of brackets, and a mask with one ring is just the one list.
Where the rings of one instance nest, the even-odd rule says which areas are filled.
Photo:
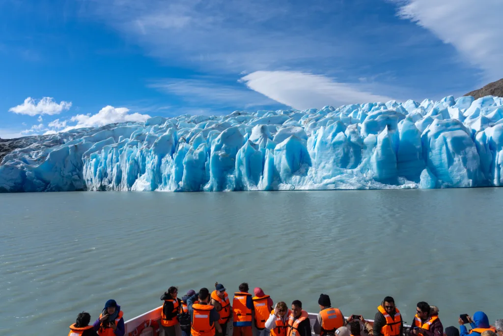
[[293, 71], [257, 71], [241, 78], [251, 90], [296, 109], [325, 105], [386, 102], [391, 98], [368, 92], [368, 87], [338, 83], [331, 78]]

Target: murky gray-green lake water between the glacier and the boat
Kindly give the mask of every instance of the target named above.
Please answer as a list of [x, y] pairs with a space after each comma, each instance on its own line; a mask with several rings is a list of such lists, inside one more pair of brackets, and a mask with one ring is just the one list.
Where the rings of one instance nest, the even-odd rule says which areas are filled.
[[[275, 302], [320, 293], [373, 318], [386, 295], [503, 318], [503, 188], [0, 194], [0, 335], [66, 334], [106, 300], [125, 319], [216, 281]], [[498, 315], [499, 314], [499, 315]]]

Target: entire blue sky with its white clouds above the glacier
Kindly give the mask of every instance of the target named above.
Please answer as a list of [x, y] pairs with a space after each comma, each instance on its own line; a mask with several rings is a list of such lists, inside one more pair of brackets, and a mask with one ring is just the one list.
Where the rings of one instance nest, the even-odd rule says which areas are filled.
[[0, 0], [0, 137], [459, 96], [503, 77], [500, 13], [501, 0]]

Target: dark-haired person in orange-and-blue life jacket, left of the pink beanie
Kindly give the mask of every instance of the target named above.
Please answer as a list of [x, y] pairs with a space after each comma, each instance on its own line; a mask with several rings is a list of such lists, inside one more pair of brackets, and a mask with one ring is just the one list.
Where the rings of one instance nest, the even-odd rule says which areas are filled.
[[253, 300], [248, 293], [248, 284], [243, 282], [239, 285], [239, 292], [234, 293], [232, 299], [232, 325], [233, 336], [252, 336], [251, 332], [251, 310], [253, 309]]

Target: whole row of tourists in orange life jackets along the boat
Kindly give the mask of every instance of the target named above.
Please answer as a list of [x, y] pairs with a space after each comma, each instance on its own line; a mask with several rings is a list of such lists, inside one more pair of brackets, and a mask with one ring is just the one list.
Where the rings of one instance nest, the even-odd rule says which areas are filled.
[[[247, 283], [239, 285], [232, 305], [222, 284], [215, 284], [211, 293], [207, 288], [187, 292], [178, 298], [178, 289], [170, 287], [161, 296], [160, 329], [164, 336], [227, 336], [227, 324], [232, 319], [229, 336], [503, 336], [503, 319], [489, 324], [487, 315], [477, 311], [472, 317], [460, 315], [459, 329], [445, 328], [439, 318], [439, 309], [426, 302], [418, 302], [410, 328], [404, 328], [400, 311], [392, 297], [387, 296], [377, 307], [373, 322], [362, 315], [345, 318], [339, 308], [331, 306], [330, 298], [321, 294], [320, 311], [311, 327], [308, 313], [302, 302], [295, 300], [291, 308], [285, 302], [273, 303], [261, 288], [248, 293]], [[124, 336], [123, 312], [115, 300], [108, 300], [100, 317], [90, 325], [91, 315], [78, 314], [70, 325], [68, 336]], [[255, 335], [252, 329], [255, 325]], [[469, 324], [468, 330], [465, 324]]]

